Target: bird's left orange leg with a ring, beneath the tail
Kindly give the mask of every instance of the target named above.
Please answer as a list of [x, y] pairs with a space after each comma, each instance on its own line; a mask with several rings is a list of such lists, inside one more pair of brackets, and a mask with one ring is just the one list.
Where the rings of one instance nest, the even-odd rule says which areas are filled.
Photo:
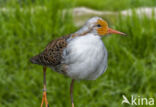
[[43, 103], [45, 101], [46, 107], [49, 107], [48, 105], [48, 100], [47, 100], [47, 89], [46, 89], [46, 67], [43, 67], [43, 83], [44, 83], [44, 88], [43, 88], [43, 96], [42, 96], [42, 103], [41, 107], [43, 107]]

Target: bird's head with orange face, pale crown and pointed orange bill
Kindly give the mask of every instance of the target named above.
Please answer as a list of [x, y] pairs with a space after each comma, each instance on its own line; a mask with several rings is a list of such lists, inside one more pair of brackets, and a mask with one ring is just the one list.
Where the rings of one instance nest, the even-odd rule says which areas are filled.
[[99, 36], [104, 36], [108, 34], [126, 35], [125, 33], [109, 28], [107, 22], [100, 17], [90, 18], [77, 33], [93, 33]]

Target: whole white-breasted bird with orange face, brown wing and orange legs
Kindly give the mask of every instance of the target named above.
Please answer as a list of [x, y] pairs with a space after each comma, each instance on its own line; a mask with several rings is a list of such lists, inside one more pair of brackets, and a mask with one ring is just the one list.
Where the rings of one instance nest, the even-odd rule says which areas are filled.
[[41, 107], [46, 96], [46, 68], [70, 77], [70, 99], [74, 107], [73, 85], [75, 80], [95, 80], [107, 69], [107, 49], [102, 37], [109, 34], [125, 33], [113, 30], [101, 17], [94, 16], [76, 32], [52, 40], [46, 48], [33, 56], [30, 61], [33, 64], [43, 66], [44, 89]]

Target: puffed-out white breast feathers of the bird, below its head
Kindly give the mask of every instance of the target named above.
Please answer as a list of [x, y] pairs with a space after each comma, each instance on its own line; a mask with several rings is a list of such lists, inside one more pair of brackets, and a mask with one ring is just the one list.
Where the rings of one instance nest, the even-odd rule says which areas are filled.
[[73, 79], [94, 80], [107, 68], [107, 51], [99, 36], [76, 37], [63, 53], [67, 75]]

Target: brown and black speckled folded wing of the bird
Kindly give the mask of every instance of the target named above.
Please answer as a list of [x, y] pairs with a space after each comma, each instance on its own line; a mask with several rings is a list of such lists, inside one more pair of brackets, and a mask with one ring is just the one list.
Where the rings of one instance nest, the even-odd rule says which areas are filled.
[[69, 36], [51, 41], [43, 52], [32, 57], [30, 61], [43, 66], [57, 66], [61, 64], [63, 49], [67, 46]]

